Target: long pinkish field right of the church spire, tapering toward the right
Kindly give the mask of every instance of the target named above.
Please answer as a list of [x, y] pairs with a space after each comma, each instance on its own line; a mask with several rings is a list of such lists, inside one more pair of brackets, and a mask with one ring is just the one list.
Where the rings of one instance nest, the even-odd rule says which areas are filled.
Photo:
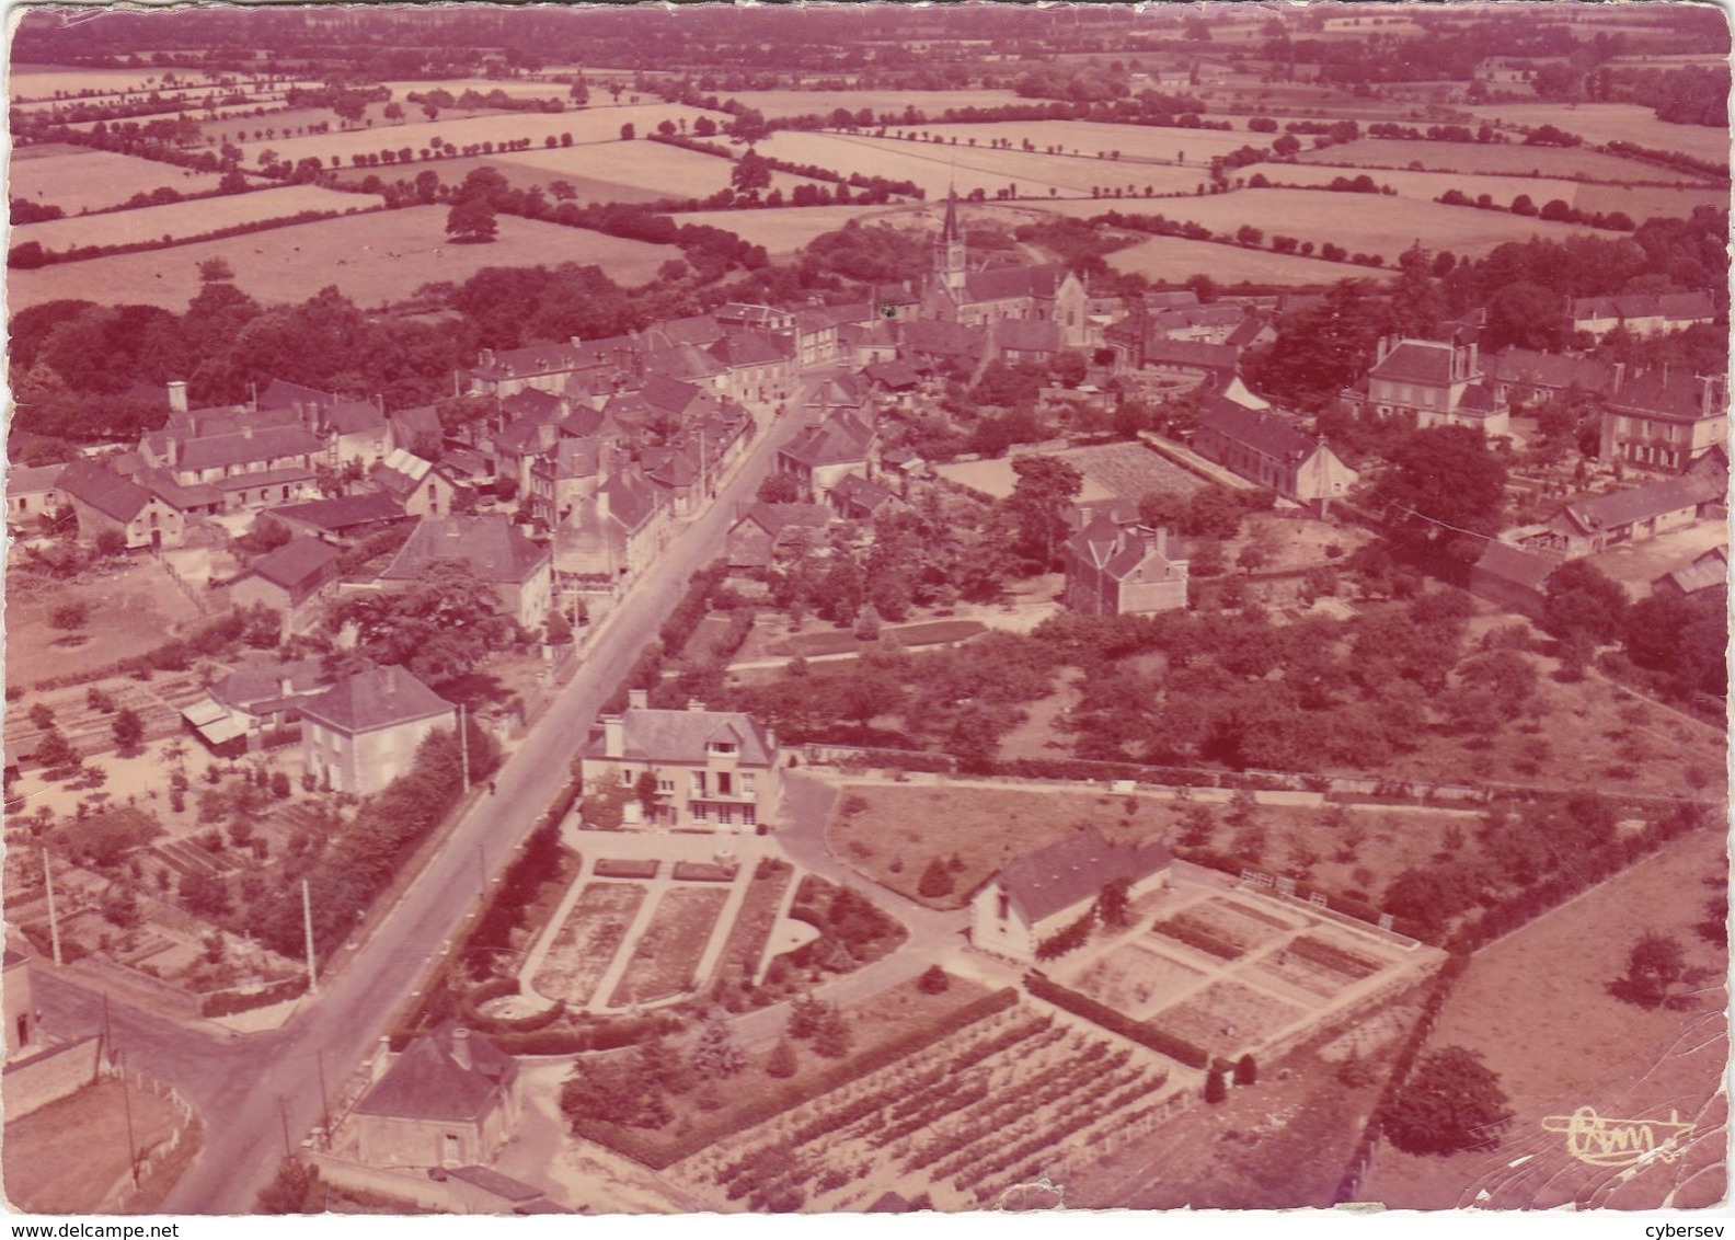
[[[1588, 231], [1575, 224], [1544, 224], [1534, 217], [1506, 212], [1475, 212], [1414, 198], [1331, 194], [1315, 189], [1237, 189], [1173, 201], [1166, 206], [1168, 210], [1162, 206], [1154, 210], [1173, 220], [1204, 224], [1213, 232], [1232, 234], [1242, 224], [1251, 224], [1265, 231], [1267, 243], [1277, 234], [1315, 245], [1334, 241], [1352, 253], [1385, 255], [1388, 264], [1397, 262], [1416, 238], [1426, 238], [1431, 250], [1480, 255], [1503, 241], [1523, 241], [1530, 236], [1560, 241]], [[1126, 210], [1133, 206], [1128, 205]], [[1112, 253], [1109, 262], [1124, 267], [1126, 253]], [[1341, 267], [1338, 272], [1336, 279], [1350, 274]]]

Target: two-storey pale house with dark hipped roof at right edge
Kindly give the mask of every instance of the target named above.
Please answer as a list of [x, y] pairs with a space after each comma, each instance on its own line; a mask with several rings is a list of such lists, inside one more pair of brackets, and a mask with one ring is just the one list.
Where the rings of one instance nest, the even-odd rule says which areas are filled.
[[1596, 454], [1605, 461], [1679, 470], [1721, 447], [1728, 434], [1723, 376], [1671, 375], [1667, 368], [1617, 375], [1603, 399]]

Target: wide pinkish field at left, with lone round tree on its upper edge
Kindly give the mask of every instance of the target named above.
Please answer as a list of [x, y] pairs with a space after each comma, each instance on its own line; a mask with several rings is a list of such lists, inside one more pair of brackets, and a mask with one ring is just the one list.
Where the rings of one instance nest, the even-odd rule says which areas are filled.
[[200, 291], [198, 265], [226, 258], [236, 286], [260, 302], [302, 302], [337, 284], [357, 305], [401, 302], [427, 283], [463, 281], [482, 267], [597, 264], [621, 284], [642, 284], [678, 258], [675, 246], [645, 245], [559, 224], [500, 217], [489, 245], [453, 245], [444, 206], [406, 206], [267, 232], [194, 241], [168, 250], [14, 271], [12, 310], [66, 297], [186, 309]]

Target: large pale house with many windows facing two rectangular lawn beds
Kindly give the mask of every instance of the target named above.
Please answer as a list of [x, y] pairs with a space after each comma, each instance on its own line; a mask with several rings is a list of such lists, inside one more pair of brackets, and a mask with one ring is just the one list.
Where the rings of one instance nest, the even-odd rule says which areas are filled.
[[[769, 829], [782, 799], [777, 734], [739, 711], [651, 709], [644, 689], [621, 715], [604, 715], [581, 753], [585, 787], [656, 786], [654, 827]], [[640, 810], [628, 803], [628, 815]], [[642, 822], [642, 815], [640, 815]]]

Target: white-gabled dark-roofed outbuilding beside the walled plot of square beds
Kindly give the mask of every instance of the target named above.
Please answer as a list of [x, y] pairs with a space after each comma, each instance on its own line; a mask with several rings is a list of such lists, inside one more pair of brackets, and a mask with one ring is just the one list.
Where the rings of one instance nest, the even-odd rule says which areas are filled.
[[1116, 845], [1084, 827], [1001, 865], [970, 902], [970, 942], [984, 952], [1034, 964], [1038, 945], [1077, 921], [1110, 883], [1138, 898], [1168, 886], [1161, 843]]

